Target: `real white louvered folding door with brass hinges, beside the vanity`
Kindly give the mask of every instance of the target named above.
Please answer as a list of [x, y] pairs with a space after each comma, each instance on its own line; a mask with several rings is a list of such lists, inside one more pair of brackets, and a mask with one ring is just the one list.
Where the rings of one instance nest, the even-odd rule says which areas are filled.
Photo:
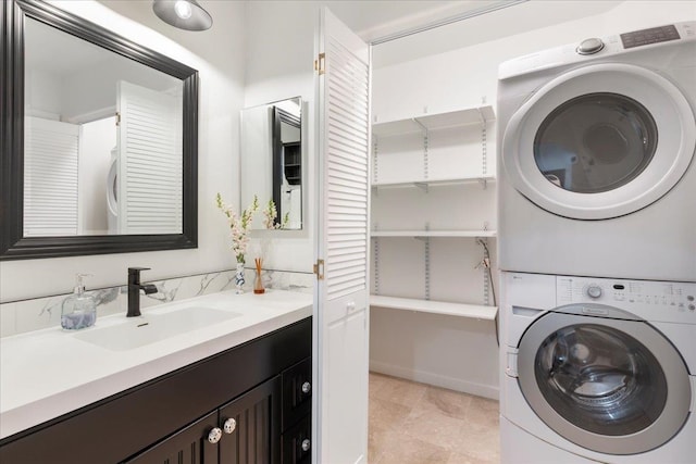
[[318, 463], [365, 463], [370, 48], [326, 9], [318, 48], [318, 235], [324, 279], [318, 280], [319, 447], [313, 456]]

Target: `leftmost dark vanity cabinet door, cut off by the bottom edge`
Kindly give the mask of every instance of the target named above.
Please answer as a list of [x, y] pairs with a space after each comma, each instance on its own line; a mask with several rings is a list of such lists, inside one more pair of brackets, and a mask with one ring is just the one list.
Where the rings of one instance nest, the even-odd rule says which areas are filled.
[[[137, 425], [134, 425], [137, 426]], [[217, 427], [217, 411], [125, 461], [127, 464], [219, 464], [217, 446], [208, 434]]]

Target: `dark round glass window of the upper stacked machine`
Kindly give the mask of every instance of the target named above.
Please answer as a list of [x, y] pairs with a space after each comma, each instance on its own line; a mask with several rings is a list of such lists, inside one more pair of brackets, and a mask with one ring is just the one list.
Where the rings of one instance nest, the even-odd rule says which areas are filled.
[[588, 93], [555, 109], [534, 138], [534, 160], [554, 185], [577, 193], [617, 189], [636, 178], [657, 149], [657, 125], [637, 101]]

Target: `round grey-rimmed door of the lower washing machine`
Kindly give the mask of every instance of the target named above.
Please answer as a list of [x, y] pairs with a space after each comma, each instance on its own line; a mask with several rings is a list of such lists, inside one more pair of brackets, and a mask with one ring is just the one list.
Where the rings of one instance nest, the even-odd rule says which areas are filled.
[[[625, 314], [596, 306], [610, 317]], [[518, 375], [524, 398], [548, 427], [585, 449], [636, 454], [660, 447], [688, 416], [683, 359], [649, 324], [577, 315], [583, 308], [548, 313], [522, 337]]]

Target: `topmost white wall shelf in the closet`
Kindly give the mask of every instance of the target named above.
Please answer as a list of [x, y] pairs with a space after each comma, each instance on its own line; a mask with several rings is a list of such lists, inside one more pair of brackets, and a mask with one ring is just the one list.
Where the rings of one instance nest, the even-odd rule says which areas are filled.
[[422, 114], [403, 120], [374, 123], [372, 125], [372, 134], [388, 137], [399, 134], [418, 133], [423, 129], [444, 129], [493, 120], [495, 120], [495, 112], [492, 105], [475, 106], [447, 113]]

